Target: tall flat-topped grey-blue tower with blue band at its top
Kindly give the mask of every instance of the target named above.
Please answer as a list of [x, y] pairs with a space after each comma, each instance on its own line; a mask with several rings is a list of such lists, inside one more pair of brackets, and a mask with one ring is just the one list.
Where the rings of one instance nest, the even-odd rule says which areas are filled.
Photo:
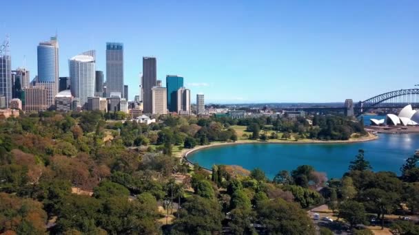
[[106, 97], [123, 94], [123, 44], [106, 43]]

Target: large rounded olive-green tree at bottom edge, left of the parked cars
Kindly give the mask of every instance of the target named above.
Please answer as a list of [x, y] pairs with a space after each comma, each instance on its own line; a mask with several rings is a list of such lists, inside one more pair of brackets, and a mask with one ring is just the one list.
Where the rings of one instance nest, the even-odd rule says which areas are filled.
[[316, 234], [307, 212], [296, 203], [287, 203], [283, 199], [263, 201], [256, 211], [267, 234]]

